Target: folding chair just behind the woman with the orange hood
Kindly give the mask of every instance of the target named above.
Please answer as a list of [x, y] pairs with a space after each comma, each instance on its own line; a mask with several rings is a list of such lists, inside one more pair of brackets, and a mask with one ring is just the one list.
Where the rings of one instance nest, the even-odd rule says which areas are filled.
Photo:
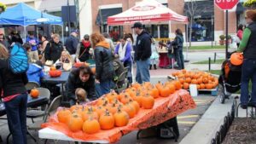
[[[127, 75], [128, 75], [128, 70], [129, 70], [129, 67], [125, 67], [125, 71], [122, 72], [117, 80], [115, 81], [115, 86], [114, 86], [114, 89], [117, 93], [120, 93], [122, 92], [123, 90], [125, 90], [128, 85], [129, 85], [129, 81], [127, 79]], [[120, 84], [121, 83], [121, 84]]]

